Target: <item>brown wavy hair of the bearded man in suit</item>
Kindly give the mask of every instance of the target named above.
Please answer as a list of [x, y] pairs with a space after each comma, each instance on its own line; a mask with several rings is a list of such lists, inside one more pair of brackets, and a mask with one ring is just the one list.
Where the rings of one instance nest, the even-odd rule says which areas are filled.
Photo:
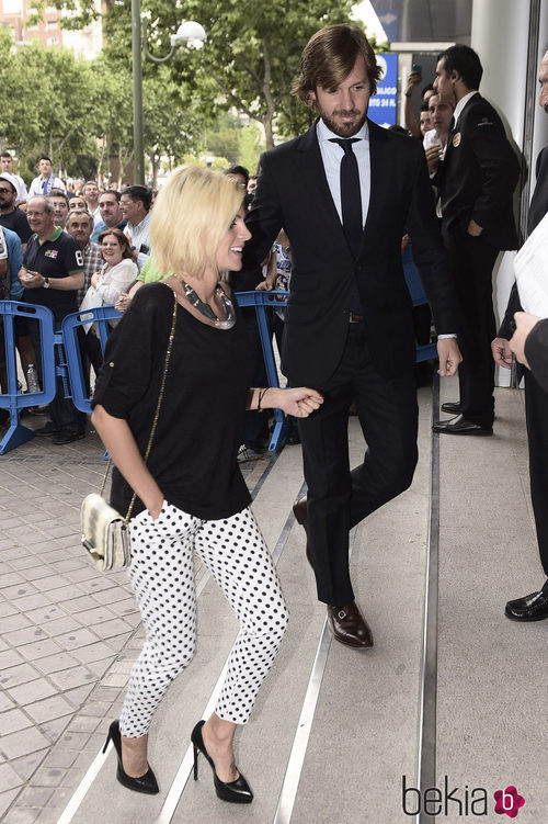
[[316, 92], [318, 87], [334, 91], [350, 75], [359, 56], [364, 58], [370, 93], [375, 94], [381, 69], [362, 30], [345, 24], [320, 29], [302, 50], [300, 75], [292, 94], [310, 105], [310, 93]]

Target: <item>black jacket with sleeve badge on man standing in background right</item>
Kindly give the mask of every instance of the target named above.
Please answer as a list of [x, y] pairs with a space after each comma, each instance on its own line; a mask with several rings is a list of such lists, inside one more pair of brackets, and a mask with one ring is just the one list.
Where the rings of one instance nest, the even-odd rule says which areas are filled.
[[495, 249], [515, 249], [512, 195], [518, 177], [520, 163], [501, 118], [475, 94], [459, 114], [435, 179], [444, 232], [466, 232], [473, 219]]

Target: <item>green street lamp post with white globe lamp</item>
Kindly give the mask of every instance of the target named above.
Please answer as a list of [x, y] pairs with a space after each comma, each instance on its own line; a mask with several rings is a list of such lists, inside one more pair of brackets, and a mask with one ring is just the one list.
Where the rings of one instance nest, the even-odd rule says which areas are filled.
[[181, 23], [176, 34], [171, 35], [171, 50], [165, 57], [155, 57], [147, 47], [147, 26], [142, 38], [140, 0], [132, 0], [132, 66], [134, 90], [134, 183], [145, 184], [145, 147], [142, 128], [142, 43], [145, 54], [155, 63], [165, 63], [171, 58], [178, 46], [186, 43], [199, 48], [206, 38], [206, 33], [199, 23], [187, 21]]

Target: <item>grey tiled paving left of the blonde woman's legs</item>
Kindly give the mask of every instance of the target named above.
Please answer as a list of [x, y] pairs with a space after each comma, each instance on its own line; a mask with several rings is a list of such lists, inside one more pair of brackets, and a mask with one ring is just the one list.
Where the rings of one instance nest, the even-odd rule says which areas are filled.
[[[45, 419], [34, 417], [30, 428]], [[3, 433], [4, 429], [0, 431]], [[247, 464], [250, 485], [265, 462]], [[79, 541], [82, 498], [104, 472], [95, 433], [0, 456], [0, 820], [55, 822], [103, 738], [141, 645], [126, 573]]]

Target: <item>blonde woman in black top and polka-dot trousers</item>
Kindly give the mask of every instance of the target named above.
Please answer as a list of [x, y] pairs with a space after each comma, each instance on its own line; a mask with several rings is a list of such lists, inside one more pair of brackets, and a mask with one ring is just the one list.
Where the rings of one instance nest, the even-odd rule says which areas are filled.
[[[133, 492], [137, 496], [129, 577], [147, 633], [119, 722], [109, 732], [117, 778], [129, 789], [158, 792], [147, 760], [148, 730], [170, 681], [194, 654], [195, 551], [240, 630], [215, 712], [192, 731], [194, 775], [203, 753], [217, 795], [249, 803], [252, 792], [233, 763], [233, 735], [249, 719], [287, 614], [236, 460], [243, 413], [275, 406], [306, 417], [322, 398], [308, 388], [249, 388], [246, 327], [219, 282], [224, 270], [241, 268], [250, 237], [242, 196], [220, 172], [186, 167], [171, 174], [155, 205], [150, 238], [159, 270], [173, 274], [144, 285], [109, 339], [92, 420], [116, 466], [112, 505], [125, 513]], [[145, 463], [173, 318], [163, 399]]]

